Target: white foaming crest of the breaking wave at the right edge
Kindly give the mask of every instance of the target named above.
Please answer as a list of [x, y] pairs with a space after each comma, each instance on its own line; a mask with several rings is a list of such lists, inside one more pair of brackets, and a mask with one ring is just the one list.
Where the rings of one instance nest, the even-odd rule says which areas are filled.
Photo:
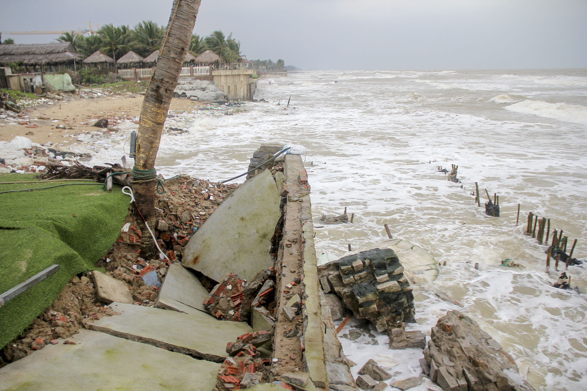
[[521, 114], [534, 114], [544, 118], [552, 118], [573, 124], [587, 124], [587, 107], [566, 103], [548, 103], [541, 100], [524, 100], [506, 110]]

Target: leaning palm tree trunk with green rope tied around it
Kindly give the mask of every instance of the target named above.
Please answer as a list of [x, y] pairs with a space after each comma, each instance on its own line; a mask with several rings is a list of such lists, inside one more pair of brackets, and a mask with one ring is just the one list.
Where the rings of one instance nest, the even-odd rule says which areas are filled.
[[[153, 169], [161, 141], [163, 124], [173, 98], [181, 72], [185, 51], [190, 45], [195, 17], [201, 0], [174, 0], [167, 24], [167, 36], [163, 38], [161, 55], [147, 87], [141, 108], [139, 131], [137, 132], [135, 168], [145, 171]], [[133, 183], [137, 208], [150, 227], [155, 226], [155, 188], [157, 180], [145, 179]], [[141, 216], [137, 216], [141, 222]], [[147, 229], [141, 229], [141, 257], [151, 259], [156, 255], [153, 238]]]

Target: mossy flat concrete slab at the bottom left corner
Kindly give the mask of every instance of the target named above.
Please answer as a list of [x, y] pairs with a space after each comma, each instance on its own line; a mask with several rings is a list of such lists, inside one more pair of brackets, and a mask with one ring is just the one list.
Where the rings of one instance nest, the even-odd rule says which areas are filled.
[[220, 369], [218, 363], [101, 332], [81, 329], [74, 340], [76, 345], [45, 346], [1, 368], [0, 390], [210, 391]]

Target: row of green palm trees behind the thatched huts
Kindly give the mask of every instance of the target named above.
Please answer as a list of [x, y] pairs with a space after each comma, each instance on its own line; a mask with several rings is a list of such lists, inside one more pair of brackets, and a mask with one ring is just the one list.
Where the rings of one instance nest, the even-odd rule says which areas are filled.
[[[83, 36], [70, 32], [63, 34], [57, 40], [71, 42], [77, 52], [84, 57], [100, 50], [116, 61], [129, 50], [142, 57], [149, 56], [160, 49], [165, 32], [165, 26], [159, 26], [153, 21], [142, 21], [134, 26], [134, 29], [127, 25], [114, 26], [109, 23], [103, 25], [96, 34]], [[232, 38], [232, 33], [226, 36], [221, 30], [215, 30], [206, 37], [193, 34], [188, 50], [194, 55], [211, 50], [220, 56], [222, 63], [242, 61], [241, 42]]]

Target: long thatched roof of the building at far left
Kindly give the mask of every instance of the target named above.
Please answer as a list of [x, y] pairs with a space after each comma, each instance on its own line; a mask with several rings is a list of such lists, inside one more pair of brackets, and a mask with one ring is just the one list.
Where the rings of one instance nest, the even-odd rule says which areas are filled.
[[81, 60], [70, 42], [20, 43], [0, 45], [0, 63], [21, 62], [24, 65], [66, 63]]

